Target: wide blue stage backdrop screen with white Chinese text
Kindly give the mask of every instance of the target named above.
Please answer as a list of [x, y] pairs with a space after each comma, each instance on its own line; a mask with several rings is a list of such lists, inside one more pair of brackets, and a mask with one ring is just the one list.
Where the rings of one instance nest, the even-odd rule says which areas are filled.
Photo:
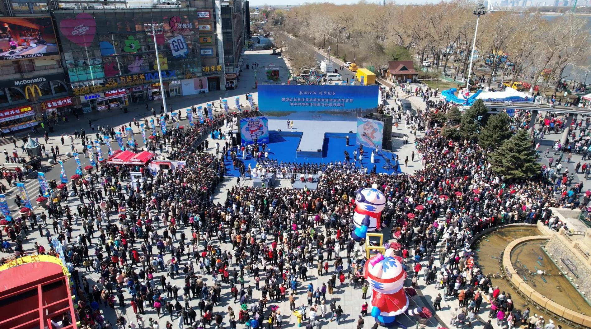
[[[261, 84], [259, 110], [265, 112], [367, 113], [378, 108], [378, 86]], [[269, 115], [272, 116], [272, 115]], [[323, 119], [307, 113], [307, 119]]]

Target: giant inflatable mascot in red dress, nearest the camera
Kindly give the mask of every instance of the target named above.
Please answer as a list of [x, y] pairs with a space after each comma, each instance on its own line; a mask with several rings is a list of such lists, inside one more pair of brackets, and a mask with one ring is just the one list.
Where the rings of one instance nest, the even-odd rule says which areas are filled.
[[394, 258], [394, 250], [387, 249], [365, 262], [363, 276], [373, 289], [371, 315], [376, 323], [388, 327], [398, 324], [396, 316], [408, 308], [408, 298], [402, 288], [405, 271]]

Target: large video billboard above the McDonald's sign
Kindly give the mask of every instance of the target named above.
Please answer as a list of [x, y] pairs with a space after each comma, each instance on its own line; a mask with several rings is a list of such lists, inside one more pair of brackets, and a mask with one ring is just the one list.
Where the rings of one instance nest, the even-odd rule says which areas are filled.
[[0, 60], [59, 54], [50, 17], [0, 17]]

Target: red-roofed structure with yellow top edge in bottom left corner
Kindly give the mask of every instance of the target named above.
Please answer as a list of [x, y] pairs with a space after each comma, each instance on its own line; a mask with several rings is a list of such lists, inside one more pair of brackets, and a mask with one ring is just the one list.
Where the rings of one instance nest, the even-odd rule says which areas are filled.
[[25, 256], [0, 266], [0, 328], [77, 329], [69, 273], [58, 258]]

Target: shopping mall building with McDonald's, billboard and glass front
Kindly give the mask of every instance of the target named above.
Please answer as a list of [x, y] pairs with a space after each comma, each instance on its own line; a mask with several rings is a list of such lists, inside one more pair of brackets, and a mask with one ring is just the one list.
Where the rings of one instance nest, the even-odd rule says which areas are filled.
[[4, 132], [161, 99], [156, 48], [166, 97], [231, 88], [248, 40], [243, 0], [18, 0], [0, 9]]

